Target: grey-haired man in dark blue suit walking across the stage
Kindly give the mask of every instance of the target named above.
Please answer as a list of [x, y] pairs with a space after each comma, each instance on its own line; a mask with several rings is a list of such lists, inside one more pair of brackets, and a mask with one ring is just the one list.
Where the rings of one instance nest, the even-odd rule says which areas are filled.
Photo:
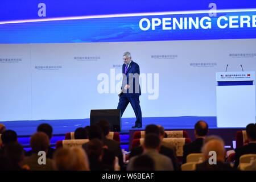
[[141, 87], [139, 86], [139, 65], [131, 60], [131, 53], [123, 53], [123, 80], [122, 88], [119, 93], [119, 103], [117, 109], [121, 110], [121, 116], [127, 105], [130, 103], [136, 115], [135, 126], [132, 128], [142, 127], [142, 113], [139, 105], [139, 96], [141, 95]]

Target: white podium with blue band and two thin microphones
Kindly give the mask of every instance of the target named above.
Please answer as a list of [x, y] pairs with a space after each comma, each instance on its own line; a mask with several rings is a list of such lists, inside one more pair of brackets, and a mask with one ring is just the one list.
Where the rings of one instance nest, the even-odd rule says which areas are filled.
[[255, 123], [255, 72], [217, 72], [217, 127]]

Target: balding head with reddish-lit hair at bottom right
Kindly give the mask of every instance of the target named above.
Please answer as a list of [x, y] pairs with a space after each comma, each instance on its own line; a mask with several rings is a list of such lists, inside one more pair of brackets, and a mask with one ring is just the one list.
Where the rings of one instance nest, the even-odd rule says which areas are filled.
[[217, 139], [209, 140], [209, 142], [205, 143], [202, 148], [202, 153], [204, 155], [204, 158], [208, 160], [212, 154], [209, 155], [209, 152], [214, 151], [216, 152], [216, 160], [220, 162], [225, 161], [225, 148], [224, 143]]

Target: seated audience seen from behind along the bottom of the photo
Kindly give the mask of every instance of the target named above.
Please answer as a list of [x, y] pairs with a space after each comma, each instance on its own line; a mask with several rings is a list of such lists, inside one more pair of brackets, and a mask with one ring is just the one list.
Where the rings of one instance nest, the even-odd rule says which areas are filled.
[[[187, 162], [189, 154], [203, 153], [204, 161], [196, 163], [196, 170], [232, 171], [237, 169], [242, 155], [256, 154], [255, 123], [246, 126], [249, 143], [236, 148], [234, 165], [226, 163], [224, 141], [218, 136], [207, 136], [208, 130], [208, 124], [204, 121], [195, 124], [196, 139], [183, 146], [183, 163]], [[6, 130], [4, 125], [0, 125], [0, 170], [180, 170], [176, 147], [163, 142], [162, 126], [146, 126], [144, 143], [131, 150], [127, 168], [120, 144], [106, 138], [109, 132], [110, 125], [106, 120], [101, 120], [96, 125], [80, 127], [75, 131], [75, 139], [89, 139], [88, 143], [81, 147], [64, 147], [55, 151], [50, 147], [53, 129], [51, 125], [43, 123], [30, 138], [31, 151], [26, 152], [18, 143], [15, 131]], [[214, 158], [211, 152], [216, 154]]]

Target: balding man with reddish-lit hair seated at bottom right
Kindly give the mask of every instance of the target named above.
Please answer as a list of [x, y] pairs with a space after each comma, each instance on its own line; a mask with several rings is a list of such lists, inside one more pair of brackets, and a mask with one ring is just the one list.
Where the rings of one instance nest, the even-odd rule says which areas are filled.
[[[205, 143], [203, 148], [203, 155], [205, 161], [203, 163], [196, 164], [196, 171], [234, 171], [236, 168], [230, 166], [229, 163], [225, 163], [226, 151], [224, 148], [224, 142], [218, 139], [209, 140]], [[212, 155], [209, 152], [216, 152], [216, 158], [212, 159]]]

